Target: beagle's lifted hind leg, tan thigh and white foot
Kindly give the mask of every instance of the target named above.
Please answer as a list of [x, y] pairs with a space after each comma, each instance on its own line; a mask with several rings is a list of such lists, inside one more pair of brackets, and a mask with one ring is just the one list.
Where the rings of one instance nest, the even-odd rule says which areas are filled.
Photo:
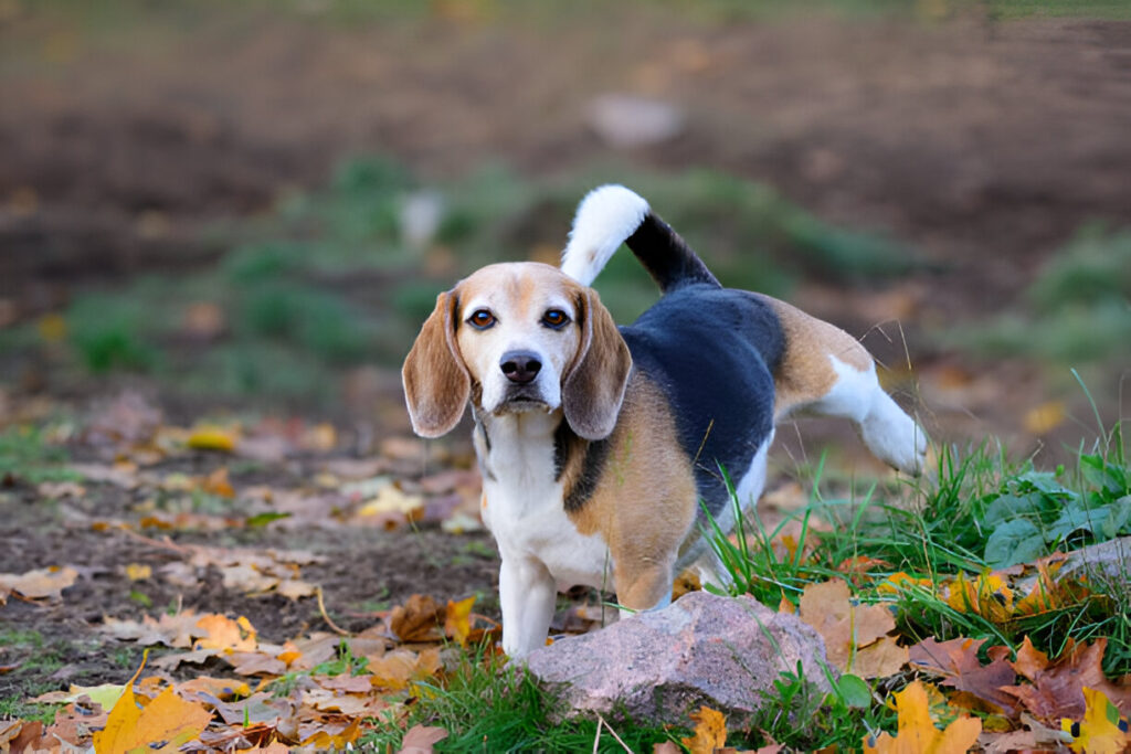
[[844, 330], [763, 296], [785, 335], [774, 375], [775, 422], [794, 414], [847, 418], [880, 460], [908, 474], [923, 470], [926, 433], [891, 399], [875, 374], [875, 362]]

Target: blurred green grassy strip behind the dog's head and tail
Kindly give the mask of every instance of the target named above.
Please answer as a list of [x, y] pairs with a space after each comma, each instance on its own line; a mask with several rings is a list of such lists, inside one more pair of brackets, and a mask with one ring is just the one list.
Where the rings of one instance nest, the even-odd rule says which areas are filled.
[[[853, 285], [922, 266], [880, 234], [831, 226], [767, 185], [716, 171], [602, 164], [529, 179], [486, 163], [426, 182], [366, 156], [238, 228], [241, 241], [214, 267], [79, 294], [64, 312], [62, 344], [27, 324], [6, 332], [0, 348], [25, 357], [38, 349], [79, 375], [144, 372], [191, 395], [329, 405], [345, 370], [399, 365], [437, 294], [460, 277], [497, 261], [556, 261], [578, 201], [614, 181], [647, 197], [733, 287], [787, 295], [801, 278]], [[441, 210], [416, 242], [403, 218], [422, 197]], [[658, 297], [627, 251], [596, 288], [621, 322]], [[211, 323], [193, 326], [201, 309]]]

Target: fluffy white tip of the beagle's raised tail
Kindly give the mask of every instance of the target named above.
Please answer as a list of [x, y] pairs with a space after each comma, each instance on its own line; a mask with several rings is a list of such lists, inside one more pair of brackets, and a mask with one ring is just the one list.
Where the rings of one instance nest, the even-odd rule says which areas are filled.
[[562, 272], [581, 285], [592, 285], [647, 214], [648, 202], [623, 185], [603, 185], [590, 191], [573, 216], [569, 244], [562, 252]]

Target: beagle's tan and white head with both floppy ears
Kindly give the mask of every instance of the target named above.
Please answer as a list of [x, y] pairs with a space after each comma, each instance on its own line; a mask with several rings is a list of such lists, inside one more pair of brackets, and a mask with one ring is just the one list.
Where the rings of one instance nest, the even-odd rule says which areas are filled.
[[491, 265], [441, 293], [402, 379], [413, 430], [449, 432], [468, 400], [484, 414], [562, 409], [606, 437], [632, 358], [597, 293], [537, 262]]

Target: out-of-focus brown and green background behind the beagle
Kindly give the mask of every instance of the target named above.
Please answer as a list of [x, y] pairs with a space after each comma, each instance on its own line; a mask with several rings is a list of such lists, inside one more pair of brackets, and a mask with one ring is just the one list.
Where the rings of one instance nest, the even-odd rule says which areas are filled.
[[[0, 0], [0, 424], [126, 390], [404, 433], [435, 294], [553, 262], [615, 181], [861, 338], [934, 437], [1055, 461], [1131, 410], [1129, 18]], [[621, 322], [656, 296], [627, 253], [597, 288]]]

